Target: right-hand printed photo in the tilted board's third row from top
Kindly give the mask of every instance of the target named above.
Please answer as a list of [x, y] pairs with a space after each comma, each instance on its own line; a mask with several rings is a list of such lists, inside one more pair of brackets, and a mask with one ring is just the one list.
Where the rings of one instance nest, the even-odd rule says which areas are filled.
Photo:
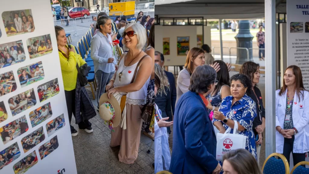
[[45, 76], [42, 62], [37, 62], [25, 67], [21, 67], [17, 70], [17, 74], [22, 88], [37, 81], [43, 80]]

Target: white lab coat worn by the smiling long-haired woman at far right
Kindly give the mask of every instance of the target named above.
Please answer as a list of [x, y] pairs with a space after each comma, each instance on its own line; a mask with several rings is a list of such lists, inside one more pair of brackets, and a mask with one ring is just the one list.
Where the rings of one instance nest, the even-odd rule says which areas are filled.
[[[286, 92], [280, 96], [280, 89], [276, 91], [276, 127], [283, 128], [286, 114]], [[300, 100], [295, 92], [293, 100], [293, 125], [298, 133], [295, 134], [293, 153], [305, 153], [309, 151], [309, 92], [301, 91]], [[284, 137], [276, 130], [276, 152], [283, 154]]]

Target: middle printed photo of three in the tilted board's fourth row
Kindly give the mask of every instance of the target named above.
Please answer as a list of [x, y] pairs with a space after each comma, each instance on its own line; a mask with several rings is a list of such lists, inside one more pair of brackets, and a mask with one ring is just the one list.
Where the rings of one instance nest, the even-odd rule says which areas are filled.
[[36, 105], [36, 96], [34, 90], [29, 89], [28, 91], [11, 97], [8, 102], [12, 115], [15, 116]]

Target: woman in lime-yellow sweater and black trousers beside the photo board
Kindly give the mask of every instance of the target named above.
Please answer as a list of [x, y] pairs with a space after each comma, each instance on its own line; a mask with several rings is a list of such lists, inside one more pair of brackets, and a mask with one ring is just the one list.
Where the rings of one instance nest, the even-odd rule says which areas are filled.
[[[68, 108], [69, 122], [71, 123], [72, 112], [75, 116], [75, 87], [77, 82], [77, 67], [82, 66], [86, 62], [83, 58], [76, 53], [74, 46], [68, 47], [66, 41], [66, 32], [60, 26], [55, 26], [55, 32], [57, 37], [58, 52], [61, 65], [61, 73], [63, 78], [63, 85], [66, 95], [66, 106]], [[71, 126], [72, 137], [77, 136], [78, 132]], [[93, 132], [91, 123], [88, 120], [78, 123], [80, 129], [85, 130], [87, 133]]]

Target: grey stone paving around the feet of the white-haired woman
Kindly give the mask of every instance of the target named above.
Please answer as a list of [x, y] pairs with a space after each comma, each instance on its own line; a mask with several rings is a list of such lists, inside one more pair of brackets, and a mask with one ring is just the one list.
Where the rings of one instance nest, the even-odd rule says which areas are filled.
[[[154, 173], [152, 167], [155, 160], [154, 147], [150, 150], [150, 154], [146, 153], [152, 140], [142, 134], [136, 161], [133, 164], [121, 163], [118, 161], [119, 147], [109, 146], [111, 131], [107, 125], [98, 115], [90, 122], [93, 133], [86, 133], [79, 130], [78, 125], [72, 124], [78, 130], [78, 136], [72, 137], [78, 174]], [[72, 123], [75, 123], [74, 117]]]

